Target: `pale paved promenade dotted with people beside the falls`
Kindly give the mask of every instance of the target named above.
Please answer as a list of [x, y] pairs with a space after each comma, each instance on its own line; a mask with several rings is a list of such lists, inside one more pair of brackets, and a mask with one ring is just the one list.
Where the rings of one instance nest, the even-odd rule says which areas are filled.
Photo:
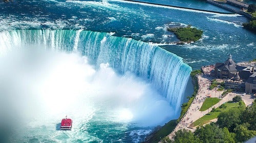
[[[232, 101], [232, 98], [234, 96], [241, 95], [241, 93], [240, 94], [229, 93], [224, 98], [221, 98], [220, 102], [218, 102], [215, 105], [212, 105], [209, 109], [207, 109], [205, 111], [199, 111], [199, 109], [201, 108], [201, 106], [202, 106], [204, 100], [207, 98], [207, 96], [220, 98], [221, 94], [223, 93], [223, 91], [209, 90], [209, 86], [211, 84], [211, 79], [212, 78], [208, 75], [198, 75], [198, 85], [199, 85], [198, 93], [197, 93], [193, 103], [190, 105], [188, 111], [186, 112], [185, 116], [178, 123], [178, 125], [176, 126], [174, 131], [169, 134], [170, 139], [173, 139], [175, 132], [177, 132], [178, 130], [181, 130], [181, 129], [186, 129], [186, 130], [190, 130], [190, 131], [194, 132], [196, 127], [193, 127], [193, 128], [189, 127], [193, 122], [195, 122], [199, 118], [201, 118], [204, 115], [206, 115], [207, 113], [209, 113], [213, 107], [217, 108], [227, 101]], [[252, 101], [254, 100], [253, 96], [251, 96], [251, 95], [245, 95], [245, 96], [241, 96], [241, 97], [242, 97], [243, 101], [245, 102], [246, 106], [250, 105], [252, 103]], [[217, 121], [217, 119], [212, 120], [212, 122], [216, 122], [216, 121]]]

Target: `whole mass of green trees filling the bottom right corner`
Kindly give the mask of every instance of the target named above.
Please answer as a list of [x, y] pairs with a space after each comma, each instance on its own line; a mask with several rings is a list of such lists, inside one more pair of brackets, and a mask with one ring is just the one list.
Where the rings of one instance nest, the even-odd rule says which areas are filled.
[[[240, 103], [242, 103], [243, 107], [245, 106], [242, 101]], [[225, 105], [227, 106], [225, 108], [226, 111], [221, 112], [218, 108], [216, 109], [217, 112], [221, 112], [218, 116], [217, 123], [201, 126], [196, 129], [194, 134], [190, 131], [180, 130], [176, 132], [175, 141], [169, 140], [169, 142], [239, 143], [255, 136], [256, 124], [254, 119], [256, 114], [256, 103], [246, 107], [245, 110], [244, 108], [239, 107], [239, 102], [228, 102], [225, 103]], [[236, 106], [230, 107], [229, 105]], [[224, 108], [224, 106], [222, 108]]]

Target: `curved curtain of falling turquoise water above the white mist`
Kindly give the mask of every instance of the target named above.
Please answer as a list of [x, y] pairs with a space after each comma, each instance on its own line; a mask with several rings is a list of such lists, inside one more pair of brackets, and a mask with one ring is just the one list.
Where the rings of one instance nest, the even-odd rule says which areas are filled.
[[108, 33], [75, 30], [15, 30], [0, 33], [0, 54], [12, 48], [36, 46], [86, 55], [96, 68], [109, 63], [119, 74], [131, 72], [152, 83], [180, 110], [191, 68], [182, 58], [158, 46]]

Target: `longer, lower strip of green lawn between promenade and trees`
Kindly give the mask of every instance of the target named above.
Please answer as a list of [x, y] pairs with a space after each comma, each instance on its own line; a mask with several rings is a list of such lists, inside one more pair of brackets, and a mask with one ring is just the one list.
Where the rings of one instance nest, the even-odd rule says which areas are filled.
[[[245, 108], [245, 103], [244, 102], [242, 102], [242, 103], [243, 103], [242, 106]], [[232, 101], [228, 101], [227, 103], [224, 103], [224, 104], [227, 106], [225, 109], [223, 109], [223, 108], [220, 109], [219, 107], [216, 108], [216, 112], [209, 112], [209, 114], [207, 114], [207, 115], [203, 116], [202, 118], [198, 119], [197, 121], [195, 121], [193, 123], [193, 127], [209, 123], [210, 120], [216, 119], [222, 111], [227, 111], [231, 108], [239, 107], [239, 102], [233, 103]]]

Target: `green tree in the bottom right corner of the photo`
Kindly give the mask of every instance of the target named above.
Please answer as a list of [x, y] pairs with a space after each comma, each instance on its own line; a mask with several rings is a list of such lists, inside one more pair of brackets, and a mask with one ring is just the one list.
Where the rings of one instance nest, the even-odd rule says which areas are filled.
[[236, 133], [237, 142], [244, 142], [256, 135], [256, 131], [248, 130], [244, 124], [234, 128], [234, 132]]

